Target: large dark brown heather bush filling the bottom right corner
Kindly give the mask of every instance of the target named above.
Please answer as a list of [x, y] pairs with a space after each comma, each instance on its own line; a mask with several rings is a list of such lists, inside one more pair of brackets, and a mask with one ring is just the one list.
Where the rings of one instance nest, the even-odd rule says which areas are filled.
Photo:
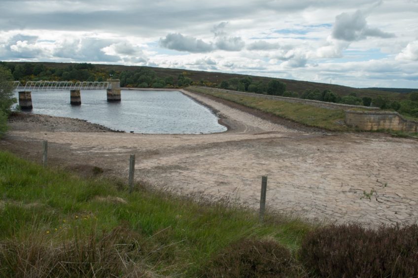
[[321, 277], [416, 277], [418, 225], [319, 228], [305, 237], [299, 258]]

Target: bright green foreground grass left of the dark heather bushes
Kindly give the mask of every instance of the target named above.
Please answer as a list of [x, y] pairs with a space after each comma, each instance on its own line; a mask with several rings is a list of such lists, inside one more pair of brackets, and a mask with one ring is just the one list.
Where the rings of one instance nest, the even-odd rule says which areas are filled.
[[[255, 212], [227, 200], [195, 201], [138, 185], [128, 194], [121, 184], [44, 169], [0, 152], [0, 276], [27, 276], [28, 269], [43, 276], [62, 260], [73, 262], [62, 271], [77, 266], [72, 271], [78, 275], [123, 276], [140, 268], [195, 277], [231, 243], [268, 238], [293, 251], [311, 230], [278, 215], [259, 223]], [[42, 265], [44, 257], [49, 259]], [[22, 267], [28, 262], [30, 268]]]

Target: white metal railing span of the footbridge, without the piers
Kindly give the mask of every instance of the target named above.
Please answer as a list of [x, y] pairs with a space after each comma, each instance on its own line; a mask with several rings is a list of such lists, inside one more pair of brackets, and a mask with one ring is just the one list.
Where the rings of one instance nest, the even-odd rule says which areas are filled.
[[70, 90], [105, 90], [109, 82], [88, 81], [28, 81], [25, 85], [13, 82], [14, 90], [19, 91], [70, 91]]

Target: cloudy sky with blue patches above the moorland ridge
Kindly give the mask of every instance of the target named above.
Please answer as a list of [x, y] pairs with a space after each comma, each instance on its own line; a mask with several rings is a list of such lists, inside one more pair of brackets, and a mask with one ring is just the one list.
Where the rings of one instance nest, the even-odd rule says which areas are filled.
[[418, 88], [418, 0], [0, 0], [0, 61]]

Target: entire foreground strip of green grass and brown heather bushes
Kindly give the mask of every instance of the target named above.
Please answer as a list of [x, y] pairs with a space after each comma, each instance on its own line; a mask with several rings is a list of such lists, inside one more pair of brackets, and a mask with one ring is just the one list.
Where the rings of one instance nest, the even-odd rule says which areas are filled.
[[1, 277], [415, 277], [418, 225], [313, 227], [0, 152]]

